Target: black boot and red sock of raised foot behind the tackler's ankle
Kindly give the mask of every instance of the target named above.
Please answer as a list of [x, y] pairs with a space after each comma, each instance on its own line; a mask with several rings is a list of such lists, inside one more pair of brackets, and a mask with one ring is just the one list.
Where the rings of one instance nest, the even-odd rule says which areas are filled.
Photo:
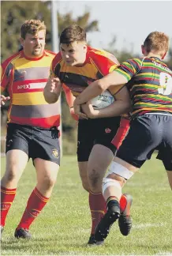
[[123, 194], [126, 198], [125, 209], [122, 211], [118, 219], [118, 225], [122, 235], [129, 235], [132, 228], [132, 217], [130, 215], [130, 208], [133, 202], [133, 197], [130, 194]]

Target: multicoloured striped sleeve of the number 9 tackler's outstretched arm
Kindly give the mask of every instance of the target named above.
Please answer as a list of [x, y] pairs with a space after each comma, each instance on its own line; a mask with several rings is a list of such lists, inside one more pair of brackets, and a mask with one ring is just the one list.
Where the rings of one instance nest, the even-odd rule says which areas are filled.
[[140, 60], [138, 58], [129, 59], [122, 62], [114, 71], [121, 73], [129, 81], [140, 69]]

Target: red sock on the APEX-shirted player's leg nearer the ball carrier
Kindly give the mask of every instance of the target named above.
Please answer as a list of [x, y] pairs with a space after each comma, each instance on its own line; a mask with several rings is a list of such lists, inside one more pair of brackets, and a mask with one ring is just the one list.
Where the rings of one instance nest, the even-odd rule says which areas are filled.
[[32, 224], [33, 220], [36, 219], [36, 216], [39, 215], [43, 207], [47, 204], [48, 200], [49, 198], [44, 197], [42, 194], [40, 194], [39, 190], [35, 188], [32, 191], [30, 198], [28, 198], [28, 204], [21, 218], [21, 222], [20, 224], [18, 224], [17, 229], [28, 229]]

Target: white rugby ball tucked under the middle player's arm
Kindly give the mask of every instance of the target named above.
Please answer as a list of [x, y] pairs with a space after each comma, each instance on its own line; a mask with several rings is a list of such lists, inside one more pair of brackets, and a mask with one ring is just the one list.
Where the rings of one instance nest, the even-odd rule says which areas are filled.
[[114, 96], [111, 95], [109, 91], [105, 91], [99, 96], [93, 98], [91, 102], [94, 109], [101, 109], [112, 104], [114, 102]]

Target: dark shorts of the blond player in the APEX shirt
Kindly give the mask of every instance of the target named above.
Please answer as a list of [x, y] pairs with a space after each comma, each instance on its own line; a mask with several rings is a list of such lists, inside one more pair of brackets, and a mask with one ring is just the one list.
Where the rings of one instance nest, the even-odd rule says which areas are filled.
[[46, 130], [9, 123], [6, 135], [6, 152], [11, 149], [24, 151], [32, 160], [41, 158], [60, 165], [60, 145], [56, 127]]

